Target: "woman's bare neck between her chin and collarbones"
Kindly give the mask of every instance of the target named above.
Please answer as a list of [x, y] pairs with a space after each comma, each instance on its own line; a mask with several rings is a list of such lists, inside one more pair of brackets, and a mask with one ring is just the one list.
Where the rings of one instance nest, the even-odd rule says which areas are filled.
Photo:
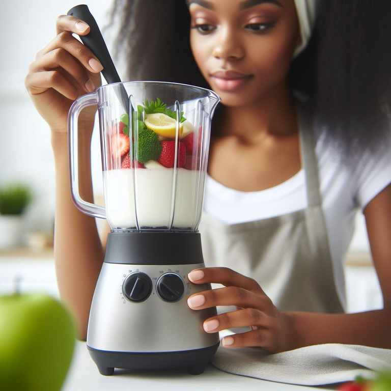
[[245, 106], [224, 107], [213, 136], [236, 136], [253, 144], [266, 136], [284, 137], [297, 132], [294, 100], [287, 83]]

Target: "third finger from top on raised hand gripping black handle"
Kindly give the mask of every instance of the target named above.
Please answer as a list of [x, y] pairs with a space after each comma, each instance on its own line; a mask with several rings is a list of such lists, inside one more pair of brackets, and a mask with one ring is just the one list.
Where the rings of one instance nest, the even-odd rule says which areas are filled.
[[29, 71], [33, 73], [42, 70], [53, 70], [54, 68], [63, 68], [84, 91], [93, 92], [95, 90], [94, 83], [90, 79], [86, 68], [63, 48], [54, 49], [43, 55], [31, 64]]

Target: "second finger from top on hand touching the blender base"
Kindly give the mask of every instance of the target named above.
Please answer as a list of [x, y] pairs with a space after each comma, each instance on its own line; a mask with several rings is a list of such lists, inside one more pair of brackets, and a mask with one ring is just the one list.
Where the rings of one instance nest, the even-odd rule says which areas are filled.
[[217, 305], [236, 305], [240, 308], [256, 308], [268, 311], [271, 300], [266, 295], [260, 295], [240, 287], [211, 289], [191, 295], [187, 305], [192, 310], [203, 310]]

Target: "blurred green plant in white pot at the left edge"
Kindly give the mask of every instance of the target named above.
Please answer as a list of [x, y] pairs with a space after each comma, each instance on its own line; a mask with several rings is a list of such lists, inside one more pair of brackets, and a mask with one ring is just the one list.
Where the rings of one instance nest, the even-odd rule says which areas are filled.
[[0, 248], [17, 246], [23, 231], [23, 212], [31, 203], [29, 186], [13, 183], [0, 186]]

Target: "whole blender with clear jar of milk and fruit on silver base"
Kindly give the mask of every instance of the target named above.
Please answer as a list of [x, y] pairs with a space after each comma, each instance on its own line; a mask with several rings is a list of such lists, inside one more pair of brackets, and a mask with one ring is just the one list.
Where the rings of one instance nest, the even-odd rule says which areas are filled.
[[[128, 111], [123, 102], [128, 97]], [[211, 289], [187, 274], [205, 267], [198, 226], [210, 121], [219, 97], [178, 83], [109, 83], [69, 112], [71, 193], [76, 207], [111, 227], [88, 323], [87, 347], [102, 375], [115, 368], [203, 373], [219, 345], [190, 295]], [[105, 207], [78, 190], [80, 111], [98, 106]]]

